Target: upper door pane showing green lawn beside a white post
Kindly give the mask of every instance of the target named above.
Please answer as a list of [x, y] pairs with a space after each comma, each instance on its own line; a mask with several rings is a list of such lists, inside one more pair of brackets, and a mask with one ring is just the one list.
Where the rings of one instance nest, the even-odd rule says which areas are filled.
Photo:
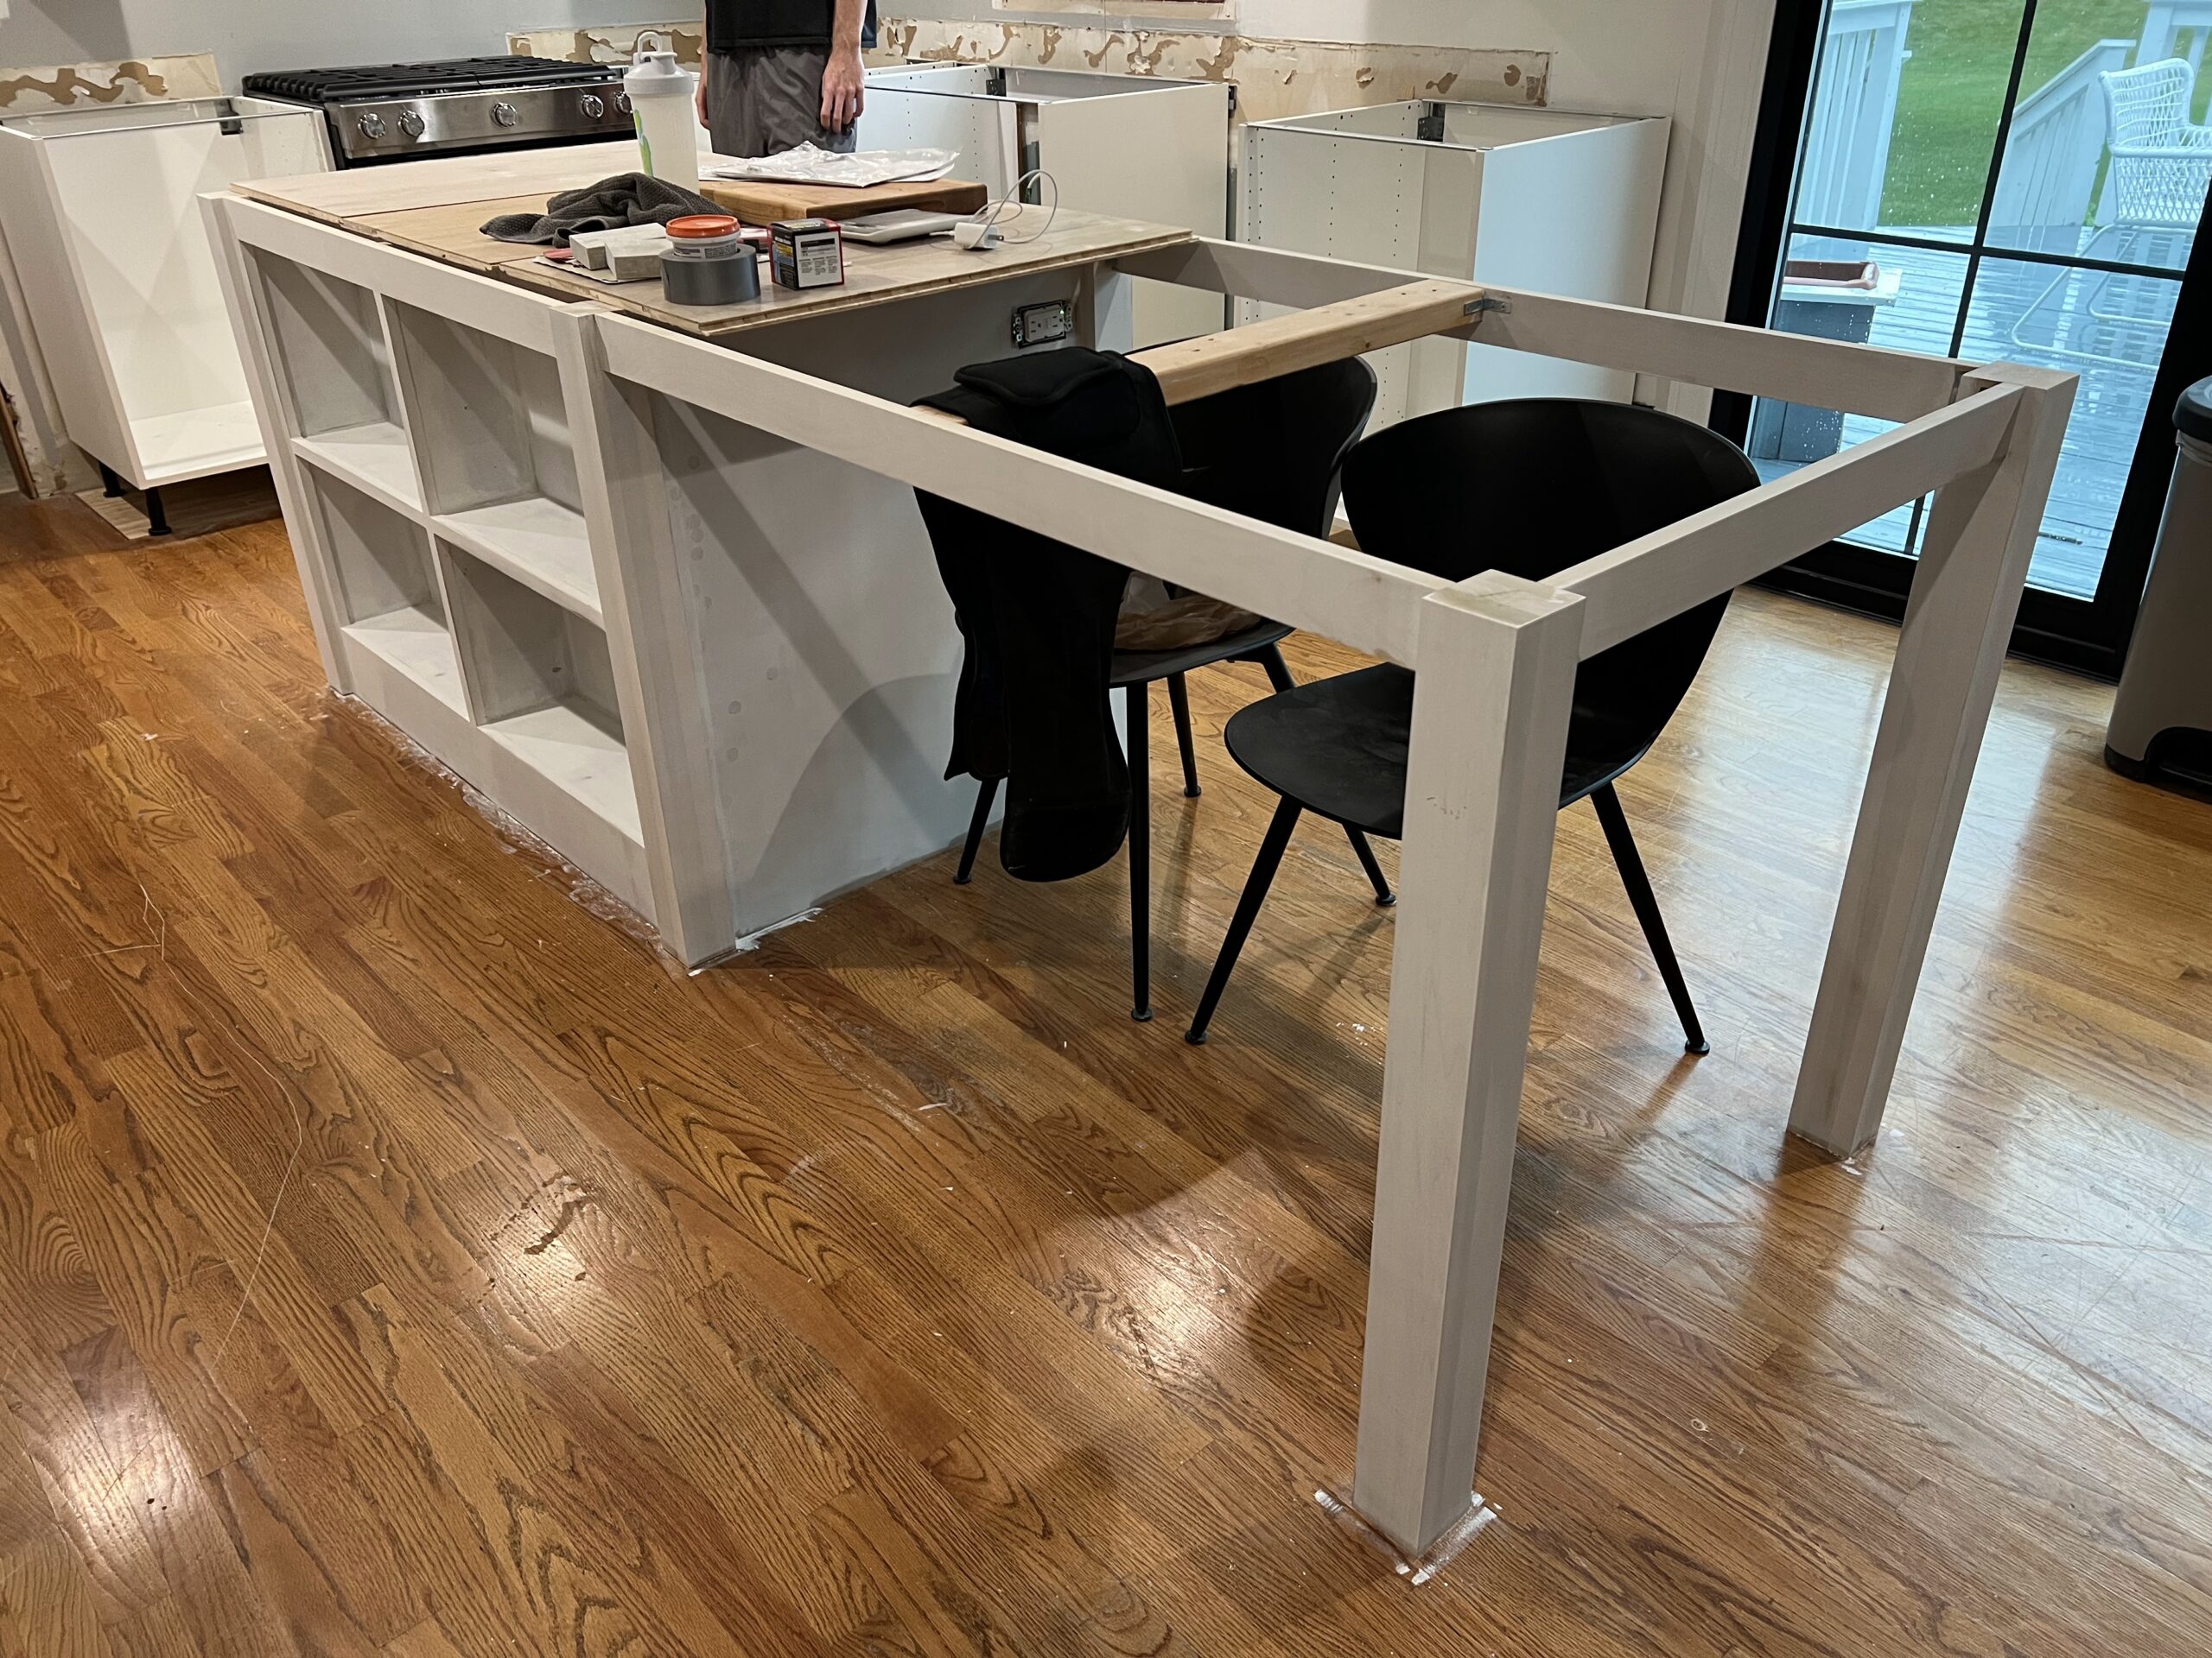
[[1836, 0], [1796, 221], [1969, 239], [2017, 44], [2020, 0]]

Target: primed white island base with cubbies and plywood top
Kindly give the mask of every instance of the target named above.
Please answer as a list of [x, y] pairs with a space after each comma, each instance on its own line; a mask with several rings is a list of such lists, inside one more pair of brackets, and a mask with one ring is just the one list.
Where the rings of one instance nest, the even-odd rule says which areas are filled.
[[611, 398], [588, 318], [909, 402], [1011, 354], [1018, 305], [1071, 301], [1077, 338], [1126, 345], [1128, 281], [1104, 263], [1190, 232], [1062, 208], [1018, 248], [849, 245], [843, 287], [697, 309], [476, 234], [604, 177], [602, 148], [626, 146], [208, 206], [330, 683], [699, 964], [960, 838], [960, 637], [911, 489], [697, 405]]

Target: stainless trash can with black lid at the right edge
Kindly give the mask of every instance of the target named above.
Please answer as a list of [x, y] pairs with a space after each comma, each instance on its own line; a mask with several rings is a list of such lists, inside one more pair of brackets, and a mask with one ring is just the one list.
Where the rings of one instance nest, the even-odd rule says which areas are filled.
[[2212, 380], [2174, 405], [2179, 455], [2104, 758], [2121, 776], [2212, 789]]

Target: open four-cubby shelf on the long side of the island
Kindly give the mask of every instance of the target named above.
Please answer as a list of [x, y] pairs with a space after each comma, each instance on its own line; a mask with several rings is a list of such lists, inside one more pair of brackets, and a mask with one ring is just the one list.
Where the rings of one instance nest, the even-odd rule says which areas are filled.
[[330, 681], [650, 920], [602, 548], [553, 356], [568, 307], [365, 254], [257, 245], [232, 294]]

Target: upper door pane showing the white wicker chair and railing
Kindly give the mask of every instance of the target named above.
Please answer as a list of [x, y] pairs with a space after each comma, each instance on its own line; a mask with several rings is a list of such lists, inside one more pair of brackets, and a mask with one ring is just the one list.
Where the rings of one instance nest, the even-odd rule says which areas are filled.
[[2037, 7], [1989, 241], [2181, 270], [2212, 181], [2208, 31], [2203, 4]]

